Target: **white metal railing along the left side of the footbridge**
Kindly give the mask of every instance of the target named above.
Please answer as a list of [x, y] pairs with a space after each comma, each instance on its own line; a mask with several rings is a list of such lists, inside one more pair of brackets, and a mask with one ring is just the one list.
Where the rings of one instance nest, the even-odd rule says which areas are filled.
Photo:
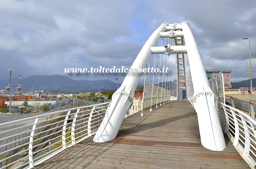
[[[171, 99], [177, 100], [172, 96], [162, 96], [161, 99], [161, 95], [134, 98], [125, 117], [151, 106], [151, 102], [152, 105], [160, 102], [164, 104]], [[12, 165], [14, 168], [33, 168], [91, 137], [98, 130], [110, 104], [106, 102], [75, 107], [0, 124], [0, 128], [6, 130], [0, 136], [0, 169]], [[17, 137], [20, 135], [23, 137]]]

